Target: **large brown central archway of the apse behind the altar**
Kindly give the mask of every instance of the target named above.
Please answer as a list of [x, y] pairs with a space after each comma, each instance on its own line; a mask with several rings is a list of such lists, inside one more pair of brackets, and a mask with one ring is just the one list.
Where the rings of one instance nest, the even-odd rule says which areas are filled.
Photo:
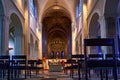
[[42, 24], [43, 56], [51, 58], [51, 52], [54, 52], [54, 58], [61, 58], [64, 52], [64, 58], [69, 58], [72, 53], [72, 32], [68, 13], [61, 7], [54, 9], [53, 6], [45, 12]]

